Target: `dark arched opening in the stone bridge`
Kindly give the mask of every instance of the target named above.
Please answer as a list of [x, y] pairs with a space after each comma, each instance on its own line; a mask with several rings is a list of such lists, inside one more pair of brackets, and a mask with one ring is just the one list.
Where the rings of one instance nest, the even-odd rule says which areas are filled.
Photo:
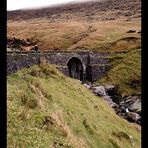
[[83, 81], [83, 65], [79, 58], [73, 57], [68, 61], [69, 76]]

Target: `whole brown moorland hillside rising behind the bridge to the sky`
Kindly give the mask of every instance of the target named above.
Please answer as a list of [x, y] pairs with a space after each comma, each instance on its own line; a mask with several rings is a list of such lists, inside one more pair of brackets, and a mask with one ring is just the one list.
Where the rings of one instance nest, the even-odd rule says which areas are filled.
[[140, 30], [140, 0], [96, 0], [8, 12], [7, 36], [36, 40], [41, 51], [140, 48]]

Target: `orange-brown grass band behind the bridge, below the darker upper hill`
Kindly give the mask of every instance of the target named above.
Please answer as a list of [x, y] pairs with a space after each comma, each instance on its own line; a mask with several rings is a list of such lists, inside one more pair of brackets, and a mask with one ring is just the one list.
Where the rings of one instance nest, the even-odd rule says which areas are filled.
[[[130, 29], [135, 33], [126, 33]], [[140, 48], [139, 21], [121, 20], [87, 23], [83, 21], [55, 22], [26, 20], [8, 22], [8, 37], [35, 39], [44, 50], [121, 51]]]

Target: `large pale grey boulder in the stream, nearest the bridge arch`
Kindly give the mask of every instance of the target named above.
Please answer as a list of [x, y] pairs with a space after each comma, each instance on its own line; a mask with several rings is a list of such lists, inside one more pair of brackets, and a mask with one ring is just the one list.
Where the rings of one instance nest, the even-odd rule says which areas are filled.
[[98, 96], [108, 96], [103, 86], [93, 87], [93, 92]]

